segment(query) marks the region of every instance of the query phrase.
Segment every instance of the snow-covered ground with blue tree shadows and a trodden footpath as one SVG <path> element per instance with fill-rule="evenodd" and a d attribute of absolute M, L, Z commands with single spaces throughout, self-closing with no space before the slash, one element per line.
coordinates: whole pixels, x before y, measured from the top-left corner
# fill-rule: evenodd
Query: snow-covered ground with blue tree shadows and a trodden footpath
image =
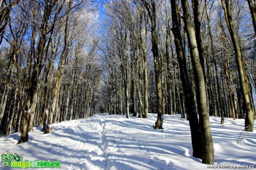
<path fill-rule="evenodd" d="M 100 114 L 61 122 L 52 133 L 29 132 L 29 142 L 21 145 L 16 145 L 19 133 L 1 137 L 0 153 L 17 153 L 22 161 L 61 161 L 61 169 L 207 168 L 192 157 L 188 121 L 165 115 L 164 130 L 154 130 L 155 121 L 155 114 L 148 119 Z M 244 120 L 219 122 L 219 117 L 210 117 L 215 165 L 256 166 L 256 128 L 244 132 Z"/>

